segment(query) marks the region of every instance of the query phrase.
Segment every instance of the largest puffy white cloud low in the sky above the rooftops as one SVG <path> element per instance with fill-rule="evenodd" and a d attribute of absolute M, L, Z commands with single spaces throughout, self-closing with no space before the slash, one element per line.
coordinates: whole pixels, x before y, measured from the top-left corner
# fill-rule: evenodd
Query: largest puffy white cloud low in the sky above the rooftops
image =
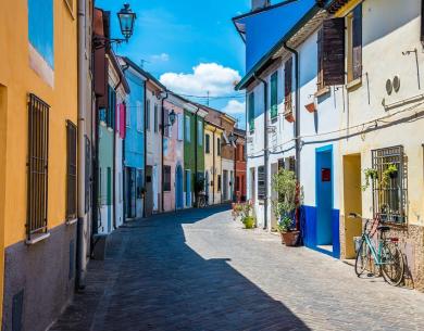
<path fill-rule="evenodd" d="M 190 96 L 211 97 L 234 93 L 236 81 L 241 79 L 240 74 L 217 63 L 200 63 L 192 67 L 192 73 L 165 73 L 160 81 L 170 90 Z"/>

